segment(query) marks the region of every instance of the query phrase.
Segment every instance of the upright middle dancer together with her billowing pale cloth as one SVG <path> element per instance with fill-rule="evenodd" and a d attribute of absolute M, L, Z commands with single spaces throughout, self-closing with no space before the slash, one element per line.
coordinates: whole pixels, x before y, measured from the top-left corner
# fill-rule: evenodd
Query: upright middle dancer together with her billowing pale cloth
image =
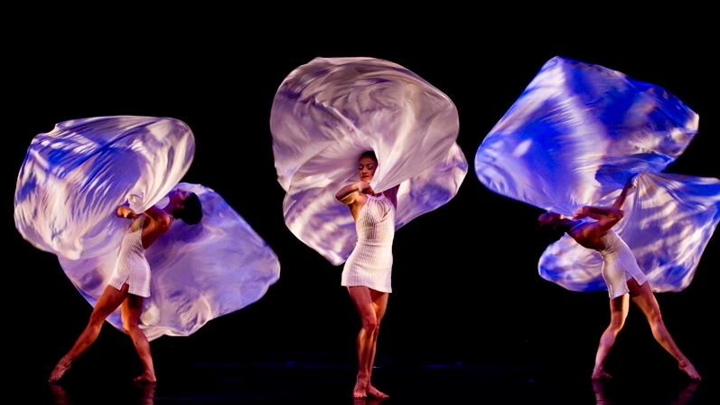
<path fill-rule="evenodd" d="M 375 58 L 314 58 L 290 72 L 273 99 L 285 225 L 332 265 L 344 263 L 341 285 L 362 320 L 358 400 L 387 398 L 370 373 L 390 293 L 391 243 L 395 231 L 448 203 L 463 184 L 459 123 L 447 95 Z"/>

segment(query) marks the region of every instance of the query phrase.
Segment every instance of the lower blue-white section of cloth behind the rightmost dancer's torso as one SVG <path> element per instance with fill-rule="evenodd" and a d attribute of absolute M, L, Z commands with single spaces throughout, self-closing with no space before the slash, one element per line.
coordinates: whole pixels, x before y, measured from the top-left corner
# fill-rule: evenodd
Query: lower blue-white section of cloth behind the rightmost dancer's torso
<path fill-rule="evenodd" d="M 656 292 L 690 285 L 700 257 L 720 221 L 720 180 L 681 174 L 641 173 L 614 226 Z M 620 192 L 596 204 L 611 205 Z M 607 289 L 603 259 L 564 234 L 539 259 L 542 278 L 571 291 Z"/>

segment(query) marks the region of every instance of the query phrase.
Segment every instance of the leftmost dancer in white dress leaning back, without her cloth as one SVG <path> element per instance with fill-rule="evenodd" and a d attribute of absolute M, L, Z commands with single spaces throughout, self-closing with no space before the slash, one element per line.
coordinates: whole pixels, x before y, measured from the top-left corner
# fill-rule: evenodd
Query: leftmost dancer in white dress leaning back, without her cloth
<path fill-rule="evenodd" d="M 102 295 L 90 314 L 88 325 L 73 344 L 70 352 L 62 356 L 50 375 L 49 382 L 59 381 L 70 369 L 72 362 L 98 338 L 106 318 L 121 306 L 123 329 L 130 336 L 143 363 L 143 373 L 136 377 L 139 383 L 155 382 L 150 344 L 138 326 L 143 299 L 150 297 L 150 265 L 145 259 L 147 250 L 155 240 L 170 229 L 173 219 L 187 224 L 201 221 L 202 207 L 197 194 L 180 188 L 168 194 L 164 208 L 152 206 L 137 214 L 127 205 L 120 205 L 116 215 L 133 220 L 122 240 L 116 266 Z"/>

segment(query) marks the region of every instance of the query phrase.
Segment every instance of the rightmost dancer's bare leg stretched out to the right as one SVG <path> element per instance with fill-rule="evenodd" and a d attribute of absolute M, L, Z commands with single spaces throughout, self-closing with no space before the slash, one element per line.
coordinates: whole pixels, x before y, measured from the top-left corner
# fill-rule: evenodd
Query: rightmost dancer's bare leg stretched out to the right
<path fill-rule="evenodd" d="M 668 328 L 665 327 L 665 322 L 663 322 L 662 316 L 660 315 L 658 300 L 655 298 L 655 295 L 652 294 L 650 283 L 644 283 L 642 286 L 639 286 L 638 282 L 632 278 L 628 281 L 628 287 L 630 287 L 632 302 L 640 307 L 642 313 L 648 318 L 650 330 L 655 340 L 678 360 L 678 368 L 682 372 L 685 372 L 687 377 L 693 381 L 700 381 L 700 374 L 695 370 L 695 366 L 687 360 L 685 354 L 680 352 L 678 345 L 675 344 L 675 341 L 670 336 Z"/>

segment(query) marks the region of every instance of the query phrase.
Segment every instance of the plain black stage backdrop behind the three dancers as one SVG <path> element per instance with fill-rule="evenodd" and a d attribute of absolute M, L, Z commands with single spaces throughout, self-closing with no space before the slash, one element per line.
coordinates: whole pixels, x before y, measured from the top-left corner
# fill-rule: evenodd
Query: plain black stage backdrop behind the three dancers
<path fill-rule="evenodd" d="M 243 25 L 250 18 L 208 21 L 202 30 L 199 22 L 172 19 L 146 28 L 158 24 L 159 15 L 126 27 L 102 19 L 61 26 L 42 22 L 36 24 L 44 26 L 41 37 L 9 45 L 4 99 L 11 126 L 5 127 L 3 154 L 5 268 L 11 275 L 5 291 L 12 299 L 5 306 L 5 330 L 11 331 L 5 338 L 18 361 L 14 370 L 46 378 L 91 310 L 57 259 L 34 249 L 10 222 L 11 193 L 27 146 L 71 118 L 141 115 L 187 123 L 197 152 L 183 181 L 220 193 L 280 259 L 280 280 L 257 303 L 210 321 L 192 336 L 155 340 L 158 373 L 203 361 L 355 361 L 360 323 L 340 286 L 341 267 L 285 227 L 285 192 L 276 182 L 271 148 L 275 91 L 290 71 L 314 57 L 397 62 L 442 90 L 459 111 L 457 142 L 470 168 L 454 200 L 397 231 L 394 292 L 378 347 L 382 362 L 550 362 L 570 363 L 588 375 L 592 370 L 597 339 L 609 319 L 606 293 L 570 292 L 541 279 L 537 264 L 545 243 L 535 232 L 539 210 L 491 193 L 473 169 L 483 137 L 548 59 L 561 55 L 597 63 L 668 89 L 701 119 L 700 133 L 667 172 L 720 176 L 718 118 L 711 109 L 714 54 L 711 44 L 703 45 L 700 27 L 685 27 L 697 31 L 676 33 L 675 42 L 665 44 L 669 39 L 655 33 L 609 36 L 580 22 L 512 21 L 506 25 L 515 32 L 510 35 L 491 25 L 440 29 L 420 19 L 401 28 L 378 20 L 366 27 L 371 36 L 350 37 L 305 30 L 290 20 L 270 19 L 253 31 Z M 523 27 L 527 30 L 519 34 Z M 716 233 L 690 287 L 658 295 L 669 330 L 700 372 L 717 363 Z M 625 356 L 649 362 L 645 372 L 675 367 L 635 307 L 615 352 L 611 368 L 629 366 Z M 126 336 L 109 325 L 79 362 L 104 355 L 130 362 L 135 356 Z"/>

